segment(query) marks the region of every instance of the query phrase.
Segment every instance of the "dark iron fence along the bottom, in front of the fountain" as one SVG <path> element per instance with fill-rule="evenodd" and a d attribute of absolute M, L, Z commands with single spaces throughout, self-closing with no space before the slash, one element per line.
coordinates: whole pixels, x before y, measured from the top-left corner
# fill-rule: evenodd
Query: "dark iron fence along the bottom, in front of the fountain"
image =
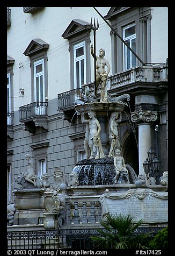
<path fill-rule="evenodd" d="M 153 238 L 162 227 L 138 228 L 134 234 L 150 232 Z M 105 229 L 103 229 L 105 230 Z M 71 249 L 99 250 L 99 243 L 91 239 L 100 236 L 97 229 L 61 229 L 41 231 L 10 231 L 7 232 L 7 249 Z"/>

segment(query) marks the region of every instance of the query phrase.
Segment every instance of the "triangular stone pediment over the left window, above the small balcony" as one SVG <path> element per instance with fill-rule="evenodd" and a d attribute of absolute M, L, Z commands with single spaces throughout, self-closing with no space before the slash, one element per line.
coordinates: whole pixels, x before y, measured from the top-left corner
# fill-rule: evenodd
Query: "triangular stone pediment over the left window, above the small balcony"
<path fill-rule="evenodd" d="M 32 54 L 35 54 L 43 49 L 48 49 L 49 44 L 47 42 L 43 41 L 42 39 L 33 39 L 30 44 L 27 46 L 25 52 L 23 53 L 25 56 L 30 56 Z"/>

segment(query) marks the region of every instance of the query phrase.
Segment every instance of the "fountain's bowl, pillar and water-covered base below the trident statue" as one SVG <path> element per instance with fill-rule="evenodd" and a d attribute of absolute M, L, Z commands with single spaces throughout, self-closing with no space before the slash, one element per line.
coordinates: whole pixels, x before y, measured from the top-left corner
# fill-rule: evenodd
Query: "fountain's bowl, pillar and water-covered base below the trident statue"
<path fill-rule="evenodd" d="M 94 96 L 90 98 L 92 99 Z M 121 99 L 123 101 L 121 101 Z M 99 121 L 100 125 L 100 141 L 103 151 L 102 157 L 100 157 L 100 155 L 92 155 L 92 152 L 89 153 L 90 147 L 88 148 L 89 145 L 87 145 L 89 138 L 85 136 L 84 145 L 86 146 L 84 146 L 84 148 L 86 150 L 86 159 L 78 161 L 77 165 L 72 170 L 72 172 L 78 174 L 79 185 L 114 184 L 114 151 L 116 148 L 120 147 L 120 143 L 117 134 L 116 137 L 110 137 L 110 133 L 112 133 L 110 121 L 114 118 L 115 131 L 117 131 L 117 125 L 121 122 L 122 111 L 128 105 L 125 101 L 129 101 L 129 95 L 115 97 L 115 95 L 111 96 L 108 94 L 106 102 L 88 102 L 87 99 L 86 102 L 75 102 L 75 110 L 77 115 L 81 115 L 82 122 L 85 123 L 87 120 L 90 120 L 90 118 L 88 119 L 88 113 L 95 113 L 95 118 Z M 89 126 L 86 126 L 86 134 L 88 134 L 88 136 L 89 132 Z M 135 183 L 137 175 L 133 168 L 129 165 L 126 165 L 126 168 L 128 169 L 129 183 Z M 120 181 L 120 183 L 122 183 L 122 181 Z M 125 183 L 125 181 L 123 181 L 123 183 Z"/>

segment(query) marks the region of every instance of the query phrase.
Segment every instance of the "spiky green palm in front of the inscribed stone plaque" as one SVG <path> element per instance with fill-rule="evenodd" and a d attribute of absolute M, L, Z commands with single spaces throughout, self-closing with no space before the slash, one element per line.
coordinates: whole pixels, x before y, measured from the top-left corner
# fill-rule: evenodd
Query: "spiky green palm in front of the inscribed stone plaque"
<path fill-rule="evenodd" d="M 100 222 L 105 230 L 97 229 L 100 235 L 91 239 L 106 249 L 147 249 L 147 238 L 151 232 L 135 234 L 134 231 L 143 221 L 134 223 L 133 220 L 130 215 L 106 214 Z"/>

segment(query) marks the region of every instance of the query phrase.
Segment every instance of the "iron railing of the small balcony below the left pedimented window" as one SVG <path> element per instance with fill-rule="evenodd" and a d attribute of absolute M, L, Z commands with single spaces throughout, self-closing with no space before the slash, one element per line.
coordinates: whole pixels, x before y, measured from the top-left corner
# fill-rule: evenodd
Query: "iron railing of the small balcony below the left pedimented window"
<path fill-rule="evenodd" d="M 48 102 L 33 102 L 19 108 L 19 120 L 24 120 L 36 116 L 47 116 Z"/>

